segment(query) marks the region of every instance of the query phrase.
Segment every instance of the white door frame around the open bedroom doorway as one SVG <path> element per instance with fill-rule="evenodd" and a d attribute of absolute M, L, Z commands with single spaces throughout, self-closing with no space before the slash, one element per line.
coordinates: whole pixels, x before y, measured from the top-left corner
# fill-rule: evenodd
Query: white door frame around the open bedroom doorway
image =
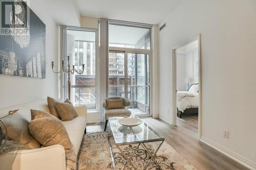
<path fill-rule="evenodd" d="M 199 104 L 198 104 L 198 138 L 201 138 L 201 117 L 202 117 L 202 98 L 201 98 L 201 34 L 193 39 L 189 39 L 179 45 L 172 48 L 172 72 L 173 72 L 173 126 L 177 126 L 177 103 L 176 103 L 176 92 L 177 92 L 177 49 L 187 45 L 191 42 L 198 40 L 198 90 L 199 90 Z"/>

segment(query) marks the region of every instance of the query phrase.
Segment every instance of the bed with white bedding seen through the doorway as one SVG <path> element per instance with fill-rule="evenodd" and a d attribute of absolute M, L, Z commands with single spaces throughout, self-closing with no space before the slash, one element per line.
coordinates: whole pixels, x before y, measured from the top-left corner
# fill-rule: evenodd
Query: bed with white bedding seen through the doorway
<path fill-rule="evenodd" d="M 191 84 L 188 91 L 177 91 L 177 116 L 198 113 L 198 83 Z"/>

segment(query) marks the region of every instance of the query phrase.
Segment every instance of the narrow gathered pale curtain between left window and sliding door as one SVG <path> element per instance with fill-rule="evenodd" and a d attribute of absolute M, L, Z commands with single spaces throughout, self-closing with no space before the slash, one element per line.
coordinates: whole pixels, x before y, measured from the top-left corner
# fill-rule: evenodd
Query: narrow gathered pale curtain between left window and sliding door
<path fill-rule="evenodd" d="M 109 21 L 100 19 L 100 46 L 99 46 L 99 66 L 100 66 L 100 121 L 104 121 L 104 109 L 102 101 L 106 98 L 107 93 L 107 80 L 108 80 L 108 55 L 109 55 Z"/>

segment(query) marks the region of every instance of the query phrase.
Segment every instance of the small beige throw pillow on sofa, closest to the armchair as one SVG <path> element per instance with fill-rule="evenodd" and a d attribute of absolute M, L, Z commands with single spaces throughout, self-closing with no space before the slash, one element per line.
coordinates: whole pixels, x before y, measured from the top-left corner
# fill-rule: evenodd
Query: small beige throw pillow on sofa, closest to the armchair
<path fill-rule="evenodd" d="M 55 105 L 62 121 L 73 120 L 78 116 L 73 104 L 68 99 L 65 103 L 56 102 Z"/>

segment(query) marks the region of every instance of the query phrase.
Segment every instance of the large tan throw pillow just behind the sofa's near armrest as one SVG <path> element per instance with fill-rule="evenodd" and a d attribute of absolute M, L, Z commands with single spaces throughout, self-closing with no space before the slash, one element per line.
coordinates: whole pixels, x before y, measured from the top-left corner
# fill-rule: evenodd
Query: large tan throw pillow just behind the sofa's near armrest
<path fill-rule="evenodd" d="M 65 126 L 57 117 L 42 117 L 31 120 L 30 133 L 44 146 L 60 144 L 71 149 L 71 141 Z"/>

